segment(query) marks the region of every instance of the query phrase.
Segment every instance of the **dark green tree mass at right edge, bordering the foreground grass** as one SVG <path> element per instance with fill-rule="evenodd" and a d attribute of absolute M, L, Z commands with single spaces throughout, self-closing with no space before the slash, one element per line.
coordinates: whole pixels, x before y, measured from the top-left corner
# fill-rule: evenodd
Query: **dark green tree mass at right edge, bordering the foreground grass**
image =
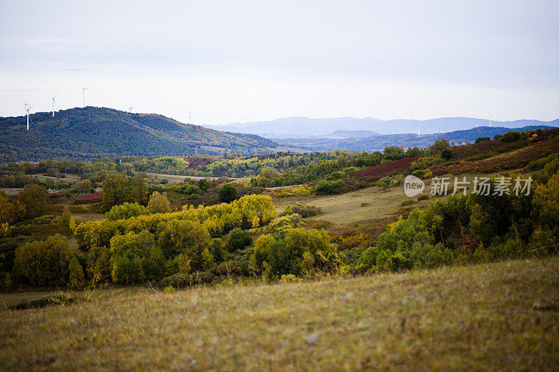
<path fill-rule="evenodd" d="M 557 255 L 558 170 L 559 161 L 554 161 L 536 174 L 529 195 L 453 195 L 427 209 L 414 209 L 389 225 L 351 269 L 401 271 Z M 511 174 L 517 176 L 523 177 Z"/>

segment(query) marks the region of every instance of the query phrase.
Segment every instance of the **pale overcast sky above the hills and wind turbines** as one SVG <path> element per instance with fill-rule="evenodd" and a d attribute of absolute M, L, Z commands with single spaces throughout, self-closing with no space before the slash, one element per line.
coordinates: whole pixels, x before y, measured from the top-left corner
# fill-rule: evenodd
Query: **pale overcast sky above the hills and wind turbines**
<path fill-rule="evenodd" d="M 559 0 L 0 0 L 0 116 L 559 118 Z M 191 120 L 188 119 L 190 110 Z"/>

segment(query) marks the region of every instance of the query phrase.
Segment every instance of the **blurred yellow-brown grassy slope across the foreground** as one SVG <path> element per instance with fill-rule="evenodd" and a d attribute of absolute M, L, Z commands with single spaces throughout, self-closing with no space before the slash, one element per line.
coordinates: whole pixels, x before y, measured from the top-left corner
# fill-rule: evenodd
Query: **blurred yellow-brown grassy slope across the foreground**
<path fill-rule="evenodd" d="M 0 369 L 553 370 L 559 259 L 0 310 Z"/>

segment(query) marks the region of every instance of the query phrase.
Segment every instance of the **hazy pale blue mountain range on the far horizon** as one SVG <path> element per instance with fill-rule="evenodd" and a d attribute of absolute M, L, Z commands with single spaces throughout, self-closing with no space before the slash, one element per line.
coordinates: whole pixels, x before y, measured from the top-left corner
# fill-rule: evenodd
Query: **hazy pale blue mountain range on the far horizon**
<path fill-rule="evenodd" d="M 233 123 L 218 126 L 206 126 L 219 131 L 236 133 L 252 133 L 269 138 L 289 137 L 325 137 L 338 130 L 342 131 L 373 131 L 382 134 L 417 133 L 421 124 L 420 133 L 448 133 L 463 131 L 476 126 L 489 126 L 488 119 L 472 117 L 440 117 L 428 120 L 380 120 L 372 117 L 356 119 L 353 117 L 340 117 L 335 119 L 309 119 L 307 117 L 288 117 L 272 121 L 253 121 L 250 123 Z M 491 121 L 493 127 L 520 128 L 523 126 L 558 126 L 559 119 L 553 121 L 540 120 L 515 120 Z"/>

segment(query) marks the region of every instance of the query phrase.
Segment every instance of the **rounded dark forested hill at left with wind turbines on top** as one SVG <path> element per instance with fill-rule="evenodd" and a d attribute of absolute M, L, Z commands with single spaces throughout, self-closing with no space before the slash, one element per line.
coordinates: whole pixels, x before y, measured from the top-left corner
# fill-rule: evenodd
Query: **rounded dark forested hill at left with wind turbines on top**
<path fill-rule="evenodd" d="M 269 153 L 277 144 L 258 135 L 224 133 L 158 114 L 83 107 L 0 117 L 0 161 L 87 159 L 122 155 L 186 155 L 224 150 Z"/>

